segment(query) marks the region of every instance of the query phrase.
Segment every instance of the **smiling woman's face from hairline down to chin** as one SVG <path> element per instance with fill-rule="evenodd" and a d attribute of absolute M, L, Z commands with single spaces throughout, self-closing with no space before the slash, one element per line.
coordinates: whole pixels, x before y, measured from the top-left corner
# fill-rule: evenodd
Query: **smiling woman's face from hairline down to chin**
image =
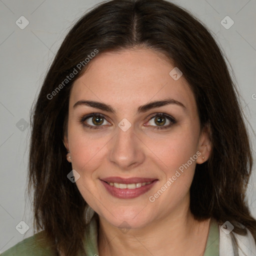
<path fill-rule="evenodd" d="M 108 52 L 72 86 L 68 159 L 84 200 L 114 226 L 181 214 L 195 165 L 208 158 L 194 96 L 173 68 L 150 49 Z"/>

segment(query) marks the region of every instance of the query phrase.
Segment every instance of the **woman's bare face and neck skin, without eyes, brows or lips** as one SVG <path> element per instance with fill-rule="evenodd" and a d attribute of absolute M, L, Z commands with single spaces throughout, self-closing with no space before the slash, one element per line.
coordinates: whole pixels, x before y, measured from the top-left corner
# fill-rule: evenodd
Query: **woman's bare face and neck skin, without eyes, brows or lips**
<path fill-rule="evenodd" d="M 99 215 L 100 256 L 127 255 L 127 251 L 129 255 L 203 255 L 209 219 L 193 218 L 189 187 L 196 163 L 209 157 L 209 130 L 200 129 L 195 99 L 184 77 L 174 80 L 169 75 L 173 67 L 164 55 L 146 48 L 102 53 L 89 62 L 71 89 L 64 144 L 70 152 L 67 160 L 80 174 L 76 185 Z M 173 103 L 137 113 L 139 106 L 165 98 L 184 107 Z M 115 113 L 88 105 L 73 107 L 79 100 L 109 104 Z M 105 116 L 100 128 L 84 125 L 95 127 L 92 118 L 80 122 L 89 113 Z M 154 113 L 166 113 L 176 122 L 157 130 L 159 123 L 151 118 Z M 131 124 L 126 131 L 118 127 L 123 118 Z M 167 126 L 170 122 L 165 121 Z M 196 152 L 200 156 L 158 198 L 149 201 Z M 158 181 L 136 198 L 121 199 L 110 195 L 100 182 L 108 176 Z M 118 227 L 121 223 L 127 223 L 126 231 Z"/>

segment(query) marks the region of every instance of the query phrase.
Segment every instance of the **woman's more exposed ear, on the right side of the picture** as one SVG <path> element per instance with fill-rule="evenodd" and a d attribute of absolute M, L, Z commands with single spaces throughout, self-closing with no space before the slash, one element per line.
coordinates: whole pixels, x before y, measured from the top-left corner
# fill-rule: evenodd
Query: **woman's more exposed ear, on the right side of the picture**
<path fill-rule="evenodd" d="M 201 134 L 198 141 L 198 151 L 201 153 L 197 158 L 196 163 L 203 163 L 208 160 L 211 152 L 211 130 L 210 125 L 205 124 L 201 130 Z"/>

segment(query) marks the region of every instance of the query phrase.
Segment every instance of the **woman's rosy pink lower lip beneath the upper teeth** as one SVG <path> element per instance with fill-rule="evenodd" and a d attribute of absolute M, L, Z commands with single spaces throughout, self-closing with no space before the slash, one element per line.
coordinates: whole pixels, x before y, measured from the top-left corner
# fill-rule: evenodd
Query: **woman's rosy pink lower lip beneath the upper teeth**
<path fill-rule="evenodd" d="M 100 180 L 100 181 L 111 195 L 117 198 L 122 198 L 122 199 L 131 199 L 131 198 L 138 197 L 139 195 L 146 193 L 157 182 L 157 180 L 155 179 L 151 183 L 146 184 L 144 186 L 137 187 L 134 189 L 129 189 L 129 188 L 116 188 L 114 186 L 110 186 L 108 183 L 106 183 L 103 180 Z"/>

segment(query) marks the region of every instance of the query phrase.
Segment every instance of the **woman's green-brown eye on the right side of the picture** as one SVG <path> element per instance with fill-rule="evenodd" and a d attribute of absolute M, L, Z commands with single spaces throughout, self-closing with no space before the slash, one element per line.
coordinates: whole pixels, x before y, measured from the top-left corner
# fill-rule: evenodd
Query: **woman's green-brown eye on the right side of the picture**
<path fill-rule="evenodd" d="M 176 120 L 165 113 L 156 113 L 151 116 L 147 122 L 147 125 L 156 126 L 156 129 L 164 129 L 170 127 L 172 124 L 176 123 Z"/>

